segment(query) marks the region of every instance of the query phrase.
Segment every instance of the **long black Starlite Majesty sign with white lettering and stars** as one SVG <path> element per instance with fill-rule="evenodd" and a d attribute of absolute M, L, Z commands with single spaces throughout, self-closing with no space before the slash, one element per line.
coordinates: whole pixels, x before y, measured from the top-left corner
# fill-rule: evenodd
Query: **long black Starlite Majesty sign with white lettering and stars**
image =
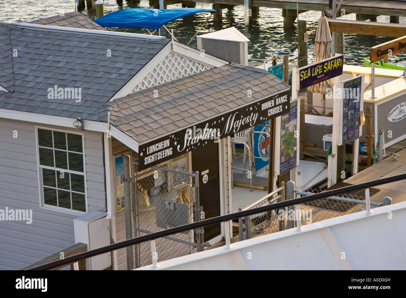
<path fill-rule="evenodd" d="M 267 99 L 253 101 L 225 114 L 139 145 L 138 169 L 143 170 L 180 154 L 201 148 L 220 139 L 289 112 L 289 89 Z"/>

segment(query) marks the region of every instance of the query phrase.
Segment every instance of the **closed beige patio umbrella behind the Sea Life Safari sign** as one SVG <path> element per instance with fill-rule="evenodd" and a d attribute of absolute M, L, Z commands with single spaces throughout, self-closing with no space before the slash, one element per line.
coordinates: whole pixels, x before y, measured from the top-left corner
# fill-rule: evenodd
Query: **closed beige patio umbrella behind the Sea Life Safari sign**
<path fill-rule="evenodd" d="M 319 62 L 333 56 L 331 54 L 330 28 L 328 27 L 327 18 L 324 15 L 324 12 L 322 12 L 322 16 L 320 17 L 319 24 L 317 26 L 316 38 L 314 41 L 314 62 Z M 322 81 L 313 86 L 310 86 L 308 90 L 314 93 L 326 94 L 326 89 L 333 88 L 333 84 L 333 79 L 328 79 L 326 81 Z"/>

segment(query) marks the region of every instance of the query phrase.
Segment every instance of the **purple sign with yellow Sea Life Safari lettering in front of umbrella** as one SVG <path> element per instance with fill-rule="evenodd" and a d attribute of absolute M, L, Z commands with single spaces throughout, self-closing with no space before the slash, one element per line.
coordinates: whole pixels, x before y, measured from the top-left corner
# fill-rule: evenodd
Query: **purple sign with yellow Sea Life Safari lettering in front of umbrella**
<path fill-rule="evenodd" d="M 298 90 L 342 75 L 343 57 L 343 55 L 337 55 L 300 68 Z"/>

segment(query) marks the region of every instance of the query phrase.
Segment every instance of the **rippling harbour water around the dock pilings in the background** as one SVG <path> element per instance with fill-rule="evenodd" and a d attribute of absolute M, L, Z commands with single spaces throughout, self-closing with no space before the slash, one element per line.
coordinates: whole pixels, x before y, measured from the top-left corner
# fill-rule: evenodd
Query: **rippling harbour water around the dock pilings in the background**
<path fill-rule="evenodd" d="M 132 3 L 132 1 L 122 1 L 122 5 L 117 4 L 116 0 L 105 0 L 105 14 L 118 9 L 136 8 L 149 6 L 147 0 L 141 0 L 139 4 Z M 212 5 L 207 3 L 197 3 L 197 8 L 211 9 Z M 168 9 L 181 8 L 181 4 L 168 5 Z M 299 7 L 300 8 L 300 7 Z M 27 22 L 35 19 L 50 17 L 60 14 L 64 10 L 70 12 L 74 10 L 73 0 L 0 0 L 0 20 L 11 23 Z M 94 11 L 84 9 L 82 14 L 90 19 L 95 19 Z M 280 9 L 260 8 L 259 15 L 253 19 L 253 24 L 248 29 L 244 27 L 244 9 L 243 6 L 235 6 L 234 9 L 223 10 L 223 23 L 222 28 L 236 27 L 240 32 L 250 39 L 248 43 L 248 56 L 250 58 L 270 59 L 272 56 L 280 51 L 288 51 L 293 43 L 297 43 L 297 30 L 283 30 L 283 17 Z M 307 21 L 307 31 L 309 33 L 308 54 L 309 63 L 314 61 L 314 38 L 317 29 L 318 19 L 320 17 L 318 11 L 308 11 L 299 15 L 300 19 Z M 350 14 L 342 17 L 344 19 L 355 20 L 355 14 Z M 212 20 L 212 19 L 211 19 Z M 201 15 L 191 15 L 172 22 L 167 27 L 174 29 L 175 37 L 183 42 L 188 43 L 190 38 L 198 30 L 204 22 Z M 378 17 L 378 22 L 389 22 L 389 16 Z M 406 24 L 406 17 L 400 17 L 400 23 Z M 296 26 L 296 22 L 295 22 Z M 218 26 L 214 26 L 213 22 L 207 26 L 201 33 L 212 32 L 219 30 Z M 144 29 L 124 29 L 124 28 L 111 28 L 109 30 L 127 31 L 134 33 L 148 33 Z M 161 30 L 161 34 L 164 33 Z M 200 33 L 199 33 L 200 34 Z M 169 34 L 167 34 L 169 37 Z M 346 34 L 346 43 L 353 46 L 372 47 L 386 41 L 390 41 L 390 37 L 378 37 L 369 35 L 356 35 Z M 196 47 L 196 39 L 190 43 Z M 293 62 L 297 56 L 295 51 L 294 56 L 290 58 Z M 349 64 L 363 64 L 363 58 L 369 57 L 368 49 L 350 49 L 346 48 L 346 61 Z M 389 58 L 390 63 L 403 65 L 406 54 L 397 55 Z"/>

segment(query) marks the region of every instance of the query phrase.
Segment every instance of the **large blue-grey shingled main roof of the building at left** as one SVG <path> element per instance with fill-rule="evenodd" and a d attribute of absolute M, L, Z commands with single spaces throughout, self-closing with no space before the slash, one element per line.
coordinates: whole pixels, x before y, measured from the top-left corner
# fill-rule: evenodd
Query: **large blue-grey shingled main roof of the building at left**
<path fill-rule="evenodd" d="M 0 108 L 98 120 L 97 109 L 170 42 L 64 29 L 0 23 L 0 86 L 10 91 L 0 91 Z M 48 99 L 54 86 L 81 88 L 81 101 Z"/>

